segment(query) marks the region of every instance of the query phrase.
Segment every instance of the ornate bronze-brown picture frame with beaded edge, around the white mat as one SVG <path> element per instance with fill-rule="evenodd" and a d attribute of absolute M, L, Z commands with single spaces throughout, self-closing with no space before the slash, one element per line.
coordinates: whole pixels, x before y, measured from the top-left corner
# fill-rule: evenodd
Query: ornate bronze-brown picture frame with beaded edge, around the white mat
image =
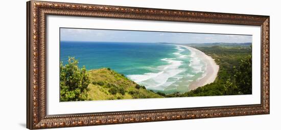
<path fill-rule="evenodd" d="M 46 15 L 261 26 L 261 104 L 46 115 Z M 55 2 L 27 2 L 27 128 L 269 114 L 269 16 Z"/>

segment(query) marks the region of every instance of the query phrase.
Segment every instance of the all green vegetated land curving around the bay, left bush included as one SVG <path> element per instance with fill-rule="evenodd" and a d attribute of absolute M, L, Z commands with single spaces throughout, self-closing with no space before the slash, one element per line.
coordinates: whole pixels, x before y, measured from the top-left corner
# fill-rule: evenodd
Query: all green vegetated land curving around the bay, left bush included
<path fill-rule="evenodd" d="M 251 44 L 190 44 L 215 59 L 219 65 L 213 83 L 185 93 L 166 95 L 147 90 L 110 68 L 86 71 L 78 67 L 78 61 L 68 58 L 60 63 L 60 101 L 113 100 L 162 97 L 192 97 L 242 95 L 252 93 Z"/>

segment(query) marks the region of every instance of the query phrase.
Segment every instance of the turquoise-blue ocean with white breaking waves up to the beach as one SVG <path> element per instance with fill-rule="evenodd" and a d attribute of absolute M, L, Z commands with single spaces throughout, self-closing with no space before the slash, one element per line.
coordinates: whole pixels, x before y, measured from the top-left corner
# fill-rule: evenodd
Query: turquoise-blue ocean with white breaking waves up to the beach
<path fill-rule="evenodd" d="M 87 70 L 111 68 L 146 89 L 166 94 L 188 91 L 203 78 L 206 64 L 178 45 L 137 42 L 61 41 L 60 61 L 75 57 Z"/>

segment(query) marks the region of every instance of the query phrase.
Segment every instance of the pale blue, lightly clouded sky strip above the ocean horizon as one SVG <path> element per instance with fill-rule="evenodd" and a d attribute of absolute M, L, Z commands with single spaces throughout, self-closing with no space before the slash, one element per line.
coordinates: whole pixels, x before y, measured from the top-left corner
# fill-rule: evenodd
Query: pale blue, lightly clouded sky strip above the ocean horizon
<path fill-rule="evenodd" d="M 171 42 L 177 44 L 211 42 L 252 42 L 251 35 L 173 33 L 97 29 L 60 29 L 62 41 Z"/>

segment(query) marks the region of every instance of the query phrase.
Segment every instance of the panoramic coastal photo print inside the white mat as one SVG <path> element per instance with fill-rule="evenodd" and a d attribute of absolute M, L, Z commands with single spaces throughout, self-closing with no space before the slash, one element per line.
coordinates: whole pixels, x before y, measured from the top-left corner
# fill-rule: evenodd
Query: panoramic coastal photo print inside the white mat
<path fill-rule="evenodd" d="M 252 94 L 252 35 L 60 28 L 60 101 Z"/>

